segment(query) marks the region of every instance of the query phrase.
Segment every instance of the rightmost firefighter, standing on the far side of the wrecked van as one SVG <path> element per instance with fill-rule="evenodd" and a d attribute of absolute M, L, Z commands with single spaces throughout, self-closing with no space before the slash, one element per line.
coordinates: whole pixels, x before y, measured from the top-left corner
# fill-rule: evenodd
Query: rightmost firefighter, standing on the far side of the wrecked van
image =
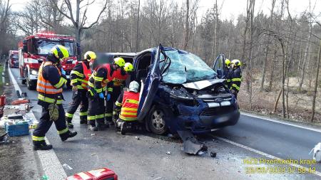
<path fill-rule="evenodd" d="M 242 82 L 242 70 L 240 69 L 240 60 L 232 60 L 231 64 L 231 73 L 230 73 L 230 90 L 235 95 L 235 98 L 238 98 L 238 91 L 240 90 L 240 84 Z"/>

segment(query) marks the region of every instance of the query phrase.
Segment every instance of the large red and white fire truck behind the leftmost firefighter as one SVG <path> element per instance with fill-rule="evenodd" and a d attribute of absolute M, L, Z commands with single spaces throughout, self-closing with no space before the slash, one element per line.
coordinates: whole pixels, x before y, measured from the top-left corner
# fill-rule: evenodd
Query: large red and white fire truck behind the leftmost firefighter
<path fill-rule="evenodd" d="M 68 85 L 70 84 L 69 75 L 77 62 L 77 55 L 80 54 L 80 46 L 76 39 L 68 35 L 58 35 L 54 33 L 36 33 L 27 36 L 19 42 L 19 69 L 21 83 L 26 84 L 29 90 L 36 89 L 38 71 L 46 55 L 51 48 L 61 44 L 68 48 L 69 58 L 63 60 L 62 68 L 66 71 Z"/>

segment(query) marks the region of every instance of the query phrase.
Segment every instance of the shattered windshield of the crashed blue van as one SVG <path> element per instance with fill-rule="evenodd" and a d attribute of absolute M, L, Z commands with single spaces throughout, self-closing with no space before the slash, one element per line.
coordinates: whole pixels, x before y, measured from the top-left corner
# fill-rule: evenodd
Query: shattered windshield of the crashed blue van
<path fill-rule="evenodd" d="M 164 83 L 191 83 L 199 80 L 209 80 L 216 77 L 215 71 L 201 58 L 192 53 L 182 51 L 165 51 L 170 58 L 170 67 L 163 73 Z M 164 59 L 161 54 L 161 60 Z M 160 63 L 162 67 L 163 62 Z"/>

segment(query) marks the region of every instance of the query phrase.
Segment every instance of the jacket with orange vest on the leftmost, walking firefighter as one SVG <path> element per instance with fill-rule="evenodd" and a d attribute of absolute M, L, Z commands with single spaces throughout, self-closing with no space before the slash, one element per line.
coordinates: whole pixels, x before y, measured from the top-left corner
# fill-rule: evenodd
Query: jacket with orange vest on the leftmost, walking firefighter
<path fill-rule="evenodd" d="M 63 85 L 67 83 L 66 76 L 51 61 L 43 62 L 39 68 L 36 90 L 39 92 L 38 104 L 61 104 Z"/>

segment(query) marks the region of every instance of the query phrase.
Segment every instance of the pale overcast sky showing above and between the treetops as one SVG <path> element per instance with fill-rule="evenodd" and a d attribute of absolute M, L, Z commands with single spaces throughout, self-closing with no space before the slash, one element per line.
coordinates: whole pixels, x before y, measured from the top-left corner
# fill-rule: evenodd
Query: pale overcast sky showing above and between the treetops
<path fill-rule="evenodd" d="M 71 0 L 76 1 L 76 0 Z M 101 0 L 97 0 L 98 2 Z M 144 0 L 141 0 L 144 1 Z M 185 2 L 185 0 L 177 0 L 181 2 Z M 246 1 L 247 0 L 218 0 L 219 7 L 223 4 L 221 9 L 221 17 L 222 19 L 236 19 L 239 14 L 245 14 L 246 9 Z M 280 10 L 280 1 L 277 0 L 275 11 Z M 24 9 L 24 5 L 28 2 L 28 0 L 11 0 L 12 9 L 14 11 L 22 11 Z M 206 10 L 213 7 L 215 0 L 199 0 L 199 9 L 198 9 L 198 17 L 200 18 L 205 14 Z M 290 2 L 290 13 L 292 16 L 300 15 L 302 12 L 308 10 L 309 0 L 289 0 Z M 321 13 L 321 0 L 311 0 L 312 6 L 315 5 L 314 14 L 319 15 Z M 88 18 L 91 21 L 94 21 L 98 16 L 99 4 L 93 5 L 92 9 L 94 11 L 88 11 Z M 270 14 L 271 0 L 257 0 L 255 2 L 255 14 L 258 11 L 263 11 L 265 14 Z M 320 19 L 320 18 L 319 18 Z"/>

